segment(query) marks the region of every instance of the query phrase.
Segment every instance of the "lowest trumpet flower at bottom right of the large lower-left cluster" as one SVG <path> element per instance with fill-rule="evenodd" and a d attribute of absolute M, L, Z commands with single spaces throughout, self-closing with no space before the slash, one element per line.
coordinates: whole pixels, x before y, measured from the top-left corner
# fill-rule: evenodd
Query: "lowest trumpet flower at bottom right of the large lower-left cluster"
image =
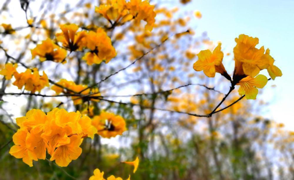
<path fill-rule="evenodd" d="M 55 160 L 55 163 L 58 166 L 68 166 L 72 160 L 77 159 L 82 153 L 82 148 L 79 147 L 83 141 L 81 136 L 72 135 L 69 138 L 70 143 L 57 147 L 57 149 L 52 154 L 52 157 L 50 158 L 51 161 Z"/>

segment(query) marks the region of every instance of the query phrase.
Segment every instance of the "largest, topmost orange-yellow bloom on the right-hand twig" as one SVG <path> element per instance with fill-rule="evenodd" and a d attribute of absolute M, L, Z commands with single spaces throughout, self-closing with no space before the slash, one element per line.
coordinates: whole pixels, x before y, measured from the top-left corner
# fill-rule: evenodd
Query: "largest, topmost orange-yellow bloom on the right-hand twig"
<path fill-rule="evenodd" d="M 264 46 L 260 49 L 255 47 L 259 42 L 258 38 L 241 34 L 235 41 L 237 45 L 234 47 L 234 75 L 245 74 L 253 78 L 260 70 L 270 66 L 273 59 L 270 54 L 264 54 Z"/>

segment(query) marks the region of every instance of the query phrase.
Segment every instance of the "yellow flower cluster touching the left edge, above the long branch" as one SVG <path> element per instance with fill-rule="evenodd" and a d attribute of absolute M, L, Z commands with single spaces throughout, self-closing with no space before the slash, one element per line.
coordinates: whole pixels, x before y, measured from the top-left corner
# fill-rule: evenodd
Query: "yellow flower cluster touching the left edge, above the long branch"
<path fill-rule="evenodd" d="M 12 75 L 15 77 L 13 83 L 14 86 L 17 86 L 18 89 L 22 89 L 25 86 L 25 90 L 31 91 L 41 91 L 45 86 L 49 87 L 49 80 L 47 74 L 43 71 L 43 75 L 40 76 L 37 68 L 26 69 L 25 72 L 18 73 L 17 64 L 12 65 L 11 63 L 5 64 L 5 68 L 0 71 L 1 75 L 4 75 L 7 80 L 12 78 Z"/>

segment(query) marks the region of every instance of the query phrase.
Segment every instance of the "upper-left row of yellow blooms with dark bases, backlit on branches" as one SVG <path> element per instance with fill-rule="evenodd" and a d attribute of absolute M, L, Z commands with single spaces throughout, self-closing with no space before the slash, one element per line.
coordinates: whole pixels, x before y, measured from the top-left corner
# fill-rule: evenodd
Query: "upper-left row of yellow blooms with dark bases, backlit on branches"
<path fill-rule="evenodd" d="M 77 32 L 78 26 L 76 24 L 63 24 L 60 28 L 62 32 L 56 34 L 56 40 L 62 43 L 62 48 L 47 39 L 31 50 L 32 59 L 39 56 L 41 62 L 47 60 L 66 63 L 66 49 L 72 52 L 83 48 L 90 50 L 82 57 L 88 65 L 100 64 L 102 61 L 108 63 L 116 56 L 111 39 L 102 28 L 98 28 L 96 32 Z"/>

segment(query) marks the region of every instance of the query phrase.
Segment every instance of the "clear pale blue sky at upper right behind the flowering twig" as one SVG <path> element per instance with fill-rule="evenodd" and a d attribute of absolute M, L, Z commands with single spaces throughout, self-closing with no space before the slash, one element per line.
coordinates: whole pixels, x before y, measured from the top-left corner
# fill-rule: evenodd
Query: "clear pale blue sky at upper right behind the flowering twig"
<path fill-rule="evenodd" d="M 258 37 L 260 46 L 270 48 L 283 76 L 270 81 L 258 98 L 270 102 L 265 116 L 294 130 L 294 0 L 192 0 L 186 8 L 202 13 L 196 32 L 207 31 L 225 52 L 232 52 L 239 34 Z"/>

